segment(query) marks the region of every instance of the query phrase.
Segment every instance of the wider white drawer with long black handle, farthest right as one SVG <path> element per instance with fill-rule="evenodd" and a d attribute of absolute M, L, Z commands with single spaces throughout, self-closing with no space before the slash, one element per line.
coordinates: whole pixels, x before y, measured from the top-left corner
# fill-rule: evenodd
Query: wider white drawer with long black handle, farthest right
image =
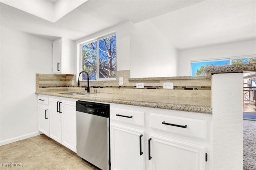
<path fill-rule="evenodd" d="M 150 128 L 206 139 L 206 121 L 150 113 Z"/>

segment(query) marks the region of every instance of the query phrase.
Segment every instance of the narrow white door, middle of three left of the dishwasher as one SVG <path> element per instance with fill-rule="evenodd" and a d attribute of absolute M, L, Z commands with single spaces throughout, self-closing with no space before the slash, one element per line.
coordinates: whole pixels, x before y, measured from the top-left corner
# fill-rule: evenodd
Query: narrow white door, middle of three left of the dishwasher
<path fill-rule="evenodd" d="M 50 98 L 49 99 L 49 128 L 50 128 L 50 138 L 61 143 L 61 113 L 60 100 Z"/>

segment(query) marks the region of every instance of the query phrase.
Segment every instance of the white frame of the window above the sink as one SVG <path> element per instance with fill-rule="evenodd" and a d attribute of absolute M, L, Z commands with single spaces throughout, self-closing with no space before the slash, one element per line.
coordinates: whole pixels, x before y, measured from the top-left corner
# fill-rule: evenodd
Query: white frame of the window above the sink
<path fill-rule="evenodd" d="M 104 36 L 99 36 L 97 38 L 93 38 L 93 39 L 90 39 L 88 41 L 83 41 L 81 43 L 78 44 L 78 56 L 79 56 L 79 69 L 78 69 L 78 73 L 77 73 L 77 79 L 78 79 L 78 74 L 82 71 L 82 68 L 83 68 L 83 63 L 82 63 L 82 46 L 85 45 L 85 44 L 90 44 L 92 42 L 97 42 L 97 70 L 96 70 L 96 80 L 90 80 L 90 81 L 114 81 L 116 80 L 116 78 L 99 78 L 99 53 L 98 53 L 98 48 L 99 48 L 99 41 L 100 40 L 103 40 L 104 38 L 108 38 L 108 37 L 111 37 L 111 36 L 114 36 L 116 35 L 116 32 L 114 33 L 111 33 L 111 34 L 107 34 L 107 35 L 104 35 Z M 116 56 L 116 60 L 117 60 L 117 56 Z M 117 65 L 117 63 L 116 63 Z M 116 67 L 117 68 L 117 67 Z M 82 76 L 80 76 L 80 79 L 82 79 Z M 80 81 L 86 81 L 86 80 L 80 80 Z"/>

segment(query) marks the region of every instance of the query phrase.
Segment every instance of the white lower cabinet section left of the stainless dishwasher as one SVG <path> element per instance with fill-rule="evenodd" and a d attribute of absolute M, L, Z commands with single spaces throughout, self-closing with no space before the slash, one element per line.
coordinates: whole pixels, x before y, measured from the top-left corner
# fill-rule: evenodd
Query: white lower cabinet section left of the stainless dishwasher
<path fill-rule="evenodd" d="M 76 152 L 76 100 L 53 96 L 38 100 L 39 131 Z M 43 105 L 46 101 L 49 104 Z"/>

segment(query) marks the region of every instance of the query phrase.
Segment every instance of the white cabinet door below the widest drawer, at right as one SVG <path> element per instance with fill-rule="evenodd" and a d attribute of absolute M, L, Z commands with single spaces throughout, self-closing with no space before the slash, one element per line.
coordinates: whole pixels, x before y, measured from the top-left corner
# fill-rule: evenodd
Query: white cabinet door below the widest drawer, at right
<path fill-rule="evenodd" d="M 204 170 L 206 168 L 204 146 L 150 134 L 148 152 L 147 160 L 150 170 Z"/>

